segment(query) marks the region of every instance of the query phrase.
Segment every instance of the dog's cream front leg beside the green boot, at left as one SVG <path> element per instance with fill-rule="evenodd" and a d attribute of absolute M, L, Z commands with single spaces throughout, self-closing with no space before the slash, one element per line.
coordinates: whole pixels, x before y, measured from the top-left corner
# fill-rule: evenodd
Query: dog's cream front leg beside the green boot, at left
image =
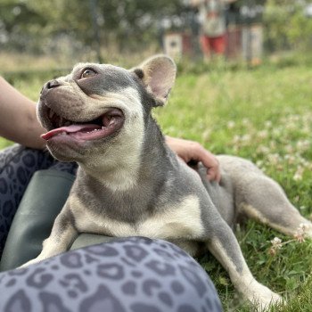
<path fill-rule="evenodd" d="M 55 218 L 50 236 L 43 242 L 43 249 L 36 259 L 25 263 L 22 267 L 58 255 L 68 250 L 70 243 L 78 236 L 70 209 L 62 209 Z"/>

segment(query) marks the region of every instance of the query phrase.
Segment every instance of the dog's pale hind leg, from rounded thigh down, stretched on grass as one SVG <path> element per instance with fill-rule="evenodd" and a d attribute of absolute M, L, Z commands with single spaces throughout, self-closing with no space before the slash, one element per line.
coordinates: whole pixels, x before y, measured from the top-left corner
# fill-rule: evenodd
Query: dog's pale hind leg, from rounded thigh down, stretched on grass
<path fill-rule="evenodd" d="M 252 176 L 236 196 L 239 211 L 283 234 L 294 235 L 304 224 L 306 236 L 312 238 L 312 223 L 291 205 L 282 187 L 264 175 Z"/>

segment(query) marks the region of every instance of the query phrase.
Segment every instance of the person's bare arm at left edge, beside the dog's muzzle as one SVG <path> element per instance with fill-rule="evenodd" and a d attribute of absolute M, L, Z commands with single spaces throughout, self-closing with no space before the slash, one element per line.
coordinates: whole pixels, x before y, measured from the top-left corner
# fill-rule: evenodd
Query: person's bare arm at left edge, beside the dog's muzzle
<path fill-rule="evenodd" d="M 37 121 L 36 103 L 0 77 L 0 135 L 22 145 L 42 149 L 45 129 Z"/>

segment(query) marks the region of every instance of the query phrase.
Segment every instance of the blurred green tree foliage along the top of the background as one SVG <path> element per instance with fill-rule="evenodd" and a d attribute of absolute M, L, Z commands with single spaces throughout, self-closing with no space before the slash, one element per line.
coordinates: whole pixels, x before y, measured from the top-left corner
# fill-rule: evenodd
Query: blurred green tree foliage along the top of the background
<path fill-rule="evenodd" d="M 311 47 L 312 18 L 307 15 L 311 3 L 237 0 L 231 5 L 239 23 L 256 21 L 260 12 L 257 21 L 264 24 L 265 46 L 273 52 Z M 124 53 L 150 45 L 157 49 L 164 21 L 169 21 L 171 29 L 192 30 L 193 11 L 186 4 L 187 0 L 2 0 L 0 48 L 70 55 L 93 50 L 98 39 L 103 46 L 113 45 Z"/>

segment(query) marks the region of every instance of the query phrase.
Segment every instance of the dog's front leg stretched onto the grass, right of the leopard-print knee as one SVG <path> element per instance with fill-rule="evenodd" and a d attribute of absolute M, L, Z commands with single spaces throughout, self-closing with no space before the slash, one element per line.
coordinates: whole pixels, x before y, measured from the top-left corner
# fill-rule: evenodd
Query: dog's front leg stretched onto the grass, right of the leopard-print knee
<path fill-rule="evenodd" d="M 251 275 L 233 231 L 226 222 L 222 221 L 215 225 L 217 232 L 209 239 L 208 248 L 225 267 L 235 289 L 242 294 L 243 298 L 254 303 L 259 310 L 281 301 L 279 295 L 257 282 Z"/>

